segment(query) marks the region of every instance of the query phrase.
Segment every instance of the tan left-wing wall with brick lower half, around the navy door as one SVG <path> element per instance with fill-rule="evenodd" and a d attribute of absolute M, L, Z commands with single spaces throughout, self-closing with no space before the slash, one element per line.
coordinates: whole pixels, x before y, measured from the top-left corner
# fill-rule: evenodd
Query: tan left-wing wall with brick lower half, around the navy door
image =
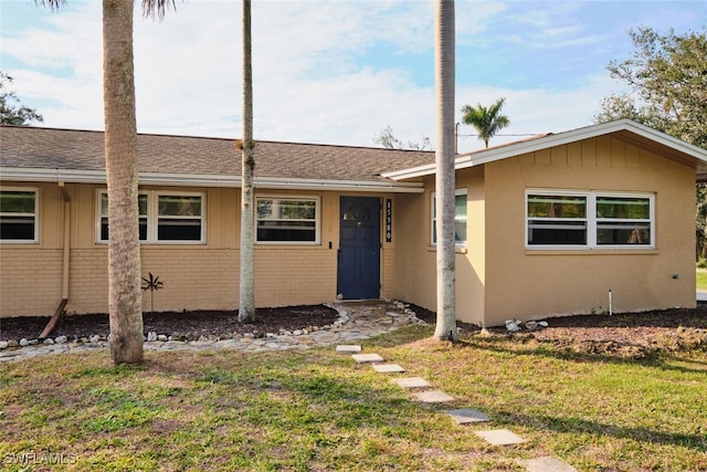
<path fill-rule="evenodd" d="M 51 315 L 62 298 L 63 199 L 56 183 L 8 183 L 40 188 L 40 241 L 0 244 L 0 316 Z M 6 183 L 3 183 L 6 187 Z M 71 275 L 67 313 L 106 313 L 107 244 L 96 243 L 96 192 L 99 185 L 66 185 L 71 196 Z M 154 190 L 155 187 L 140 187 Z M 143 244 L 143 275 L 159 276 L 155 311 L 236 310 L 240 264 L 240 189 L 159 188 L 205 193 L 205 244 Z M 255 303 L 284 306 L 333 302 L 337 285 L 338 192 L 256 190 L 256 196 L 307 196 L 320 199 L 317 244 L 257 244 Z M 363 196 L 371 196 L 366 193 Z M 392 198 L 387 195 L 383 197 Z M 381 216 L 381 225 L 384 218 Z M 331 242 L 331 248 L 329 248 Z M 392 295 L 395 244 L 381 252 L 381 296 Z M 143 296 L 150 310 L 150 293 Z"/>

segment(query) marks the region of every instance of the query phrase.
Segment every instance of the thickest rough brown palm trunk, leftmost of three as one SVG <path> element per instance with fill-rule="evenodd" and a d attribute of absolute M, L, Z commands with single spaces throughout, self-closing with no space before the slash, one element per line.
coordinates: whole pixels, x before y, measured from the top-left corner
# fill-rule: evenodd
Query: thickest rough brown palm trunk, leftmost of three
<path fill-rule="evenodd" d="M 110 355 L 143 361 L 138 161 L 133 75 L 133 1 L 103 1 L 103 98 L 108 186 Z"/>

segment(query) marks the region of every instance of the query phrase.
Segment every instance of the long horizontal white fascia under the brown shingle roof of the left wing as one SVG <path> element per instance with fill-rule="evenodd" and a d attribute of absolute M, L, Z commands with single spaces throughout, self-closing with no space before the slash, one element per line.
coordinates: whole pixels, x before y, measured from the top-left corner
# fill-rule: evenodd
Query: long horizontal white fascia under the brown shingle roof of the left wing
<path fill-rule="evenodd" d="M 74 182 L 74 183 L 105 183 L 106 172 L 103 170 L 71 170 L 71 169 L 36 169 L 1 167 L 0 180 L 33 181 L 33 182 Z M 140 185 L 172 186 L 172 187 L 241 187 L 240 176 L 228 175 L 186 175 L 140 172 Z M 367 191 L 393 193 L 422 193 L 420 182 L 399 183 L 394 181 L 366 180 L 317 180 L 287 179 L 277 177 L 257 177 L 254 185 L 258 188 L 296 189 L 296 190 L 331 190 L 331 191 Z"/>

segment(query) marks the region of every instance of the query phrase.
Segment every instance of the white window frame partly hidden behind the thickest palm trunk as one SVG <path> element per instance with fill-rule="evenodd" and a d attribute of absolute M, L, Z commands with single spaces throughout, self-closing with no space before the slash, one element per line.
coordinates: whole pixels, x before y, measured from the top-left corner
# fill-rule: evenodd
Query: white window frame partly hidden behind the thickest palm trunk
<path fill-rule="evenodd" d="M 107 244 L 108 240 L 101 239 L 101 221 L 106 217 L 102 213 L 103 196 L 107 195 L 107 189 L 98 189 L 96 191 L 96 243 Z M 207 193 L 198 191 L 178 191 L 178 190 L 139 190 L 138 195 L 147 196 L 147 239 L 141 239 L 140 244 L 205 244 L 207 242 Z M 160 240 L 158 238 L 159 229 L 159 198 L 162 196 L 176 197 L 200 197 L 201 210 L 200 216 L 192 219 L 200 221 L 201 234 L 199 240 Z M 161 217 L 163 218 L 163 217 Z"/>

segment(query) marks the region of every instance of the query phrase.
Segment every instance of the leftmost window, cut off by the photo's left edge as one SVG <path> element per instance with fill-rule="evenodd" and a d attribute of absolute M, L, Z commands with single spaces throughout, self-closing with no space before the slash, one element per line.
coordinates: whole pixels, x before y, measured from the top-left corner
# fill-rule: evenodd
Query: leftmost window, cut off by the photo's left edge
<path fill-rule="evenodd" d="M 38 190 L 0 190 L 0 241 L 38 241 Z"/>

